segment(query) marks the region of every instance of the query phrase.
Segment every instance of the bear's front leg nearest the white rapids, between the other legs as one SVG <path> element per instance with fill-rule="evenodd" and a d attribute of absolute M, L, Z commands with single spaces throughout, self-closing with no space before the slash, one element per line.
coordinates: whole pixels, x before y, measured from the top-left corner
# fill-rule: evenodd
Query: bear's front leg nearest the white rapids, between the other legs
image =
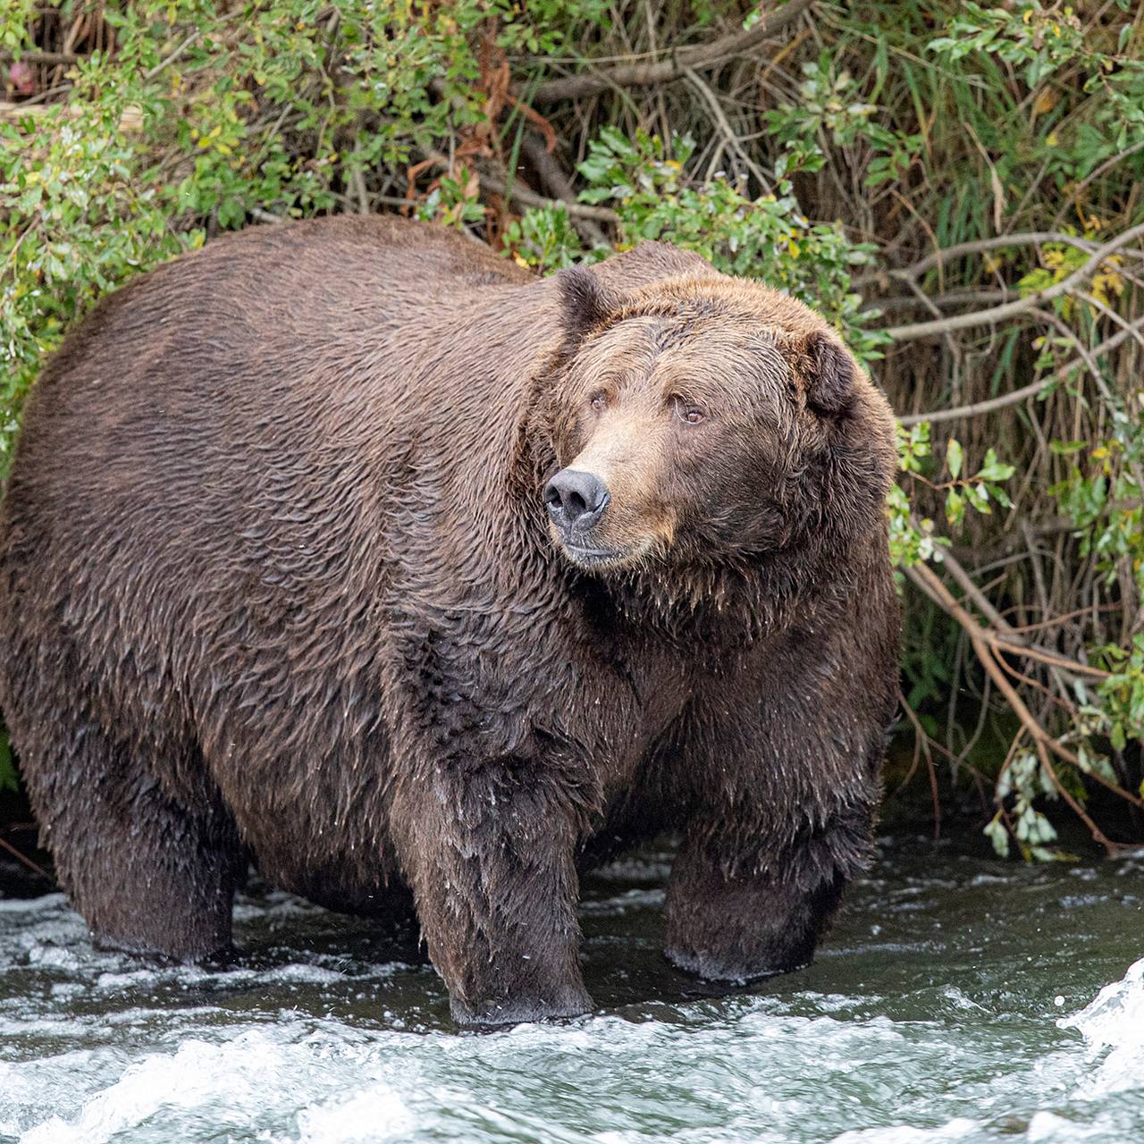
<path fill-rule="evenodd" d="M 438 766 L 400 791 L 394 832 L 454 1020 L 587 1012 L 577 828 L 555 776 L 522 760 Z"/>

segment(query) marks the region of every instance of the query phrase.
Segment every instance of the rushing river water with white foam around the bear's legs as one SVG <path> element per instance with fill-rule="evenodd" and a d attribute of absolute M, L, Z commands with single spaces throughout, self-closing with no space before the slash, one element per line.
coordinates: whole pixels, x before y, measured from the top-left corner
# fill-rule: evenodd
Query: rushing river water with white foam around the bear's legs
<path fill-rule="evenodd" d="M 2 899 L 0 1142 L 1144 1141 L 1144 857 L 889 840 L 813 967 L 731 995 L 660 958 L 667 861 L 586 881 L 596 1014 L 464 1035 L 408 935 L 283 893 L 217 971 Z"/>

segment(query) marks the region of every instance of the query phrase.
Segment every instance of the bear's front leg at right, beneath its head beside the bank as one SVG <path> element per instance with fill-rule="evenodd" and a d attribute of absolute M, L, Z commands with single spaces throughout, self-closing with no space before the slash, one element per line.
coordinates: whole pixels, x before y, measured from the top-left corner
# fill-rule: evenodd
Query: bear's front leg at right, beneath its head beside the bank
<path fill-rule="evenodd" d="M 897 691 L 896 611 L 868 613 L 883 614 L 793 633 L 697 697 L 678 733 L 685 827 L 667 891 L 677 966 L 739 982 L 813 956 L 873 853 Z"/>

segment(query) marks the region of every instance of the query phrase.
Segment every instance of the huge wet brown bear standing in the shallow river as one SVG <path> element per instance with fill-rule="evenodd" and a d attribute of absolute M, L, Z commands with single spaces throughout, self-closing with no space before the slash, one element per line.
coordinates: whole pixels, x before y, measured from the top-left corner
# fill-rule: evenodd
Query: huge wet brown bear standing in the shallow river
<path fill-rule="evenodd" d="M 253 863 L 415 909 L 459 1022 L 590 1007 L 578 871 L 804 966 L 872 847 L 892 420 L 802 303 L 649 244 L 535 278 L 384 219 L 105 299 L 29 400 L 0 704 L 94 937 L 205 959 Z"/>

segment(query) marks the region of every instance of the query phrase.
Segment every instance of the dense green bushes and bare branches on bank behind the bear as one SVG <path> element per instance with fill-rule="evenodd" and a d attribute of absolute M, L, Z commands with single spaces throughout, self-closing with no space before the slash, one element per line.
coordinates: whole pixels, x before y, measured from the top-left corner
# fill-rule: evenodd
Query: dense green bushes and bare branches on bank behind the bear
<path fill-rule="evenodd" d="M 896 778 L 1003 852 L 1057 807 L 1144 841 L 1137 6 L 16 0 L 0 76 L 5 466 L 65 331 L 220 231 L 666 239 L 820 308 L 901 414 Z"/>

